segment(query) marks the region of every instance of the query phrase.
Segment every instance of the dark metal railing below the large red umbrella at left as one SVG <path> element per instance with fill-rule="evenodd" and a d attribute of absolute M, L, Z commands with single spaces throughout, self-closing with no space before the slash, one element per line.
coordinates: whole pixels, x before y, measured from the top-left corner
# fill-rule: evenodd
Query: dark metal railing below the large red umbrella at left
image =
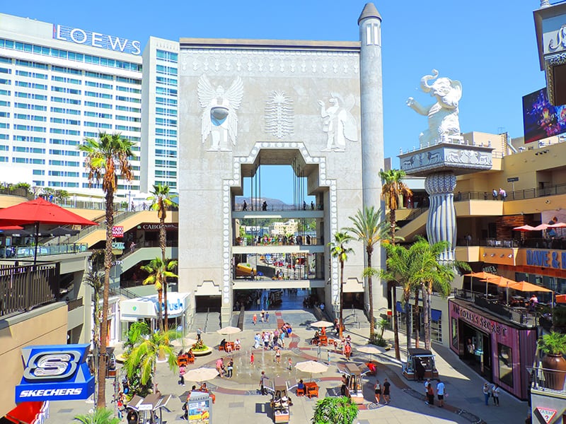
<path fill-rule="evenodd" d="M 57 302 L 59 264 L 0 265 L 0 317 Z"/>

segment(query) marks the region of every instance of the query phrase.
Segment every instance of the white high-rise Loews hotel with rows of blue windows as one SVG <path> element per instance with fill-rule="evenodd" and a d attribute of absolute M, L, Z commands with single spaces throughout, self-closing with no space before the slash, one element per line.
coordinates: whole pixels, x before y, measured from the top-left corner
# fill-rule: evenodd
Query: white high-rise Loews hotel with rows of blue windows
<path fill-rule="evenodd" d="M 118 195 L 175 192 L 178 50 L 0 13 L 0 183 L 92 193 L 77 146 L 105 131 L 136 142 Z"/>

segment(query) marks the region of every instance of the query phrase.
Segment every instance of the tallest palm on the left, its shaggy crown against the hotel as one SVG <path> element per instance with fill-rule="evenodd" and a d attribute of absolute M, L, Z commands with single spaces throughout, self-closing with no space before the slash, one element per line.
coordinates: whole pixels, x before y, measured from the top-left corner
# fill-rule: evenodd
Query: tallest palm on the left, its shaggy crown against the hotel
<path fill-rule="evenodd" d="M 88 182 L 102 179 L 106 202 L 106 244 L 104 252 L 104 290 L 102 321 L 100 322 L 100 360 L 98 361 L 98 408 L 105 408 L 106 343 L 108 335 L 108 293 L 110 291 L 110 269 L 112 268 L 112 227 L 114 226 L 114 194 L 118 186 L 118 175 L 132 181 L 134 174 L 129 159 L 134 156 L 134 143 L 120 133 L 98 134 L 98 140 L 85 139 L 79 151 L 85 154 L 84 165 L 88 170 Z"/>

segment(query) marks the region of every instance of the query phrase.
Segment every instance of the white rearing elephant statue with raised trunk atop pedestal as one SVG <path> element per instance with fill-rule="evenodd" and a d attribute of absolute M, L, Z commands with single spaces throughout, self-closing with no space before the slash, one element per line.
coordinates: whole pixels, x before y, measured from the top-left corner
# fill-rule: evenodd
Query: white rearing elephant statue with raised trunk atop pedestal
<path fill-rule="evenodd" d="M 430 106 L 422 106 L 413 98 L 407 99 L 407 105 L 417 113 L 429 117 L 429 128 L 419 136 L 420 146 L 427 147 L 442 141 L 450 141 L 451 136 L 460 136 L 458 120 L 458 102 L 462 98 L 462 84 L 450 78 L 437 78 L 438 71 L 421 78 L 421 89 L 424 93 L 436 98 L 437 102 Z M 436 80 L 434 83 L 429 83 Z"/>

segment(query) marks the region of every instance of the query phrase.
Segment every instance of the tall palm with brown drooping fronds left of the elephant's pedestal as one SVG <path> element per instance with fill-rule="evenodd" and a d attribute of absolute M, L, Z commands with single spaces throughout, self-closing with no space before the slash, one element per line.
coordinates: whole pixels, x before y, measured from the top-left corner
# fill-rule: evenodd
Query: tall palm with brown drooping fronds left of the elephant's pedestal
<path fill-rule="evenodd" d="M 381 196 L 385 199 L 386 207 L 389 209 L 389 226 L 391 231 L 391 243 L 395 244 L 395 229 L 397 228 L 397 220 L 395 220 L 395 211 L 398 209 L 398 199 L 400 196 L 412 196 L 412 191 L 403 182 L 406 174 L 403 170 L 387 170 L 380 171 L 379 177 L 383 180 L 381 186 Z M 393 297 L 391 299 L 393 309 L 393 334 L 395 335 L 395 358 L 401 359 L 399 351 L 399 329 L 398 312 L 397 312 L 397 290 L 395 284 L 393 285 Z"/>

